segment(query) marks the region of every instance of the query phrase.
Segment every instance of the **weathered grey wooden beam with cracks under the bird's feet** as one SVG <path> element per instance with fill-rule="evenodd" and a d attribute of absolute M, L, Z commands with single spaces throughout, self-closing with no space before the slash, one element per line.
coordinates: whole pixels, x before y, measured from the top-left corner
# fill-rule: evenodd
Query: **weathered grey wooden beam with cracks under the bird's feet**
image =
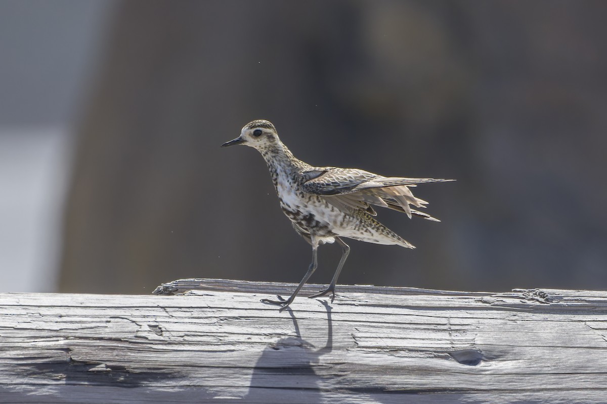
<path fill-rule="evenodd" d="M 0 402 L 607 402 L 606 292 L 294 286 L 0 294 Z"/>

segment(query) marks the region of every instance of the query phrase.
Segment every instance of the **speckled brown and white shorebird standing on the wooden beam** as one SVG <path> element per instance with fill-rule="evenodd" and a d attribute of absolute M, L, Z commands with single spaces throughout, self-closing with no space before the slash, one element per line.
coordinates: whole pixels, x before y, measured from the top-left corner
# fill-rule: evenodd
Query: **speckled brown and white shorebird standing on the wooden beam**
<path fill-rule="evenodd" d="M 312 246 L 312 262 L 297 288 L 288 299 L 262 299 L 263 303 L 287 308 L 302 286 L 318 267 L 317 249 L 325 243 L 337 243 L 342 256 L 331 283 L 311 298 L 330 294 L 335 299 L 335 285 L 350 253 L 342 240 L 346 237 L 369 243 L 399 245 L 415 248 L 407 240 L 388 229 L 376 219 L 376 207 L 388 208 L 426 220 L 440 220 L 415 208 L 425 208 L 423 199 L 413 196 L 410 188 L 426 182 L 446 182 L 450 179 L 385 177 L 358 168 L 313 167 L 295 156 L 283 144 L 276 127 L 265 119 L 246 124 L 240 136 L 222 147 L 245 145 L 262 154 L 279 197 L 283 213 L 291 220 L 295 231 Z M 411 205 L 415 208 L 412 208 Z"/>

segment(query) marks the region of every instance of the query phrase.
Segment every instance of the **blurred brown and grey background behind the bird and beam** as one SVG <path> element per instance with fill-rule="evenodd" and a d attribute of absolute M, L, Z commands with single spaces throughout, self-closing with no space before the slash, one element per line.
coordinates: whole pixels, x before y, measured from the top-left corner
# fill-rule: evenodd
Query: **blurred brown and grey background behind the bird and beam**
<path fill-rule="evenodd" d="M 607 288 L 603 1 L 0 1 L 0 290 L 299 282 L 310 247 L 250 148 L 448 177 L 340 283 Z M 327 283 L 341 251 L 319 250 Z"/>

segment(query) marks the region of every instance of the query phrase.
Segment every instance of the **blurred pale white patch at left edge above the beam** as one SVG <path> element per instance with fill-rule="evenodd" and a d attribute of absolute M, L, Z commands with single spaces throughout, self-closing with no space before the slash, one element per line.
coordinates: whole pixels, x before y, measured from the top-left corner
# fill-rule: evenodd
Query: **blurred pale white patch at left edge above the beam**
<path fill-rule="evenodd" d="M 71 137 L 0 127 L 0 292 L 52 292 L 58 280 Z"/>

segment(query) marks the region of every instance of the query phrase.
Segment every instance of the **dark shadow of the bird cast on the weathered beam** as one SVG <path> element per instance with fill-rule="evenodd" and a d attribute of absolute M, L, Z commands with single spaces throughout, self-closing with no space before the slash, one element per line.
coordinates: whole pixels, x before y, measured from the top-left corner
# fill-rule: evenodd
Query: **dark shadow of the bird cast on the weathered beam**
<path fill-rule="evenodd" d="M 314 372 L 313 365 L 320 356 L 333 350 L 331 306 L 327 302 L 322 304 L 327 310 L 325 346 L 314 349 L 313 343 L 302 337 L 293 310 L 287 308 L 293 320 L 295 336 L 279 339 L 263 350 L 253 369 L 248 394 L 243 397 L 245 402 L 293 402 L 302 394 L 300 389 L 305 389 L 308 402 L 322 402 L 321 376 Z M 293 399 L 290 399 L 291 395 Z"/>

